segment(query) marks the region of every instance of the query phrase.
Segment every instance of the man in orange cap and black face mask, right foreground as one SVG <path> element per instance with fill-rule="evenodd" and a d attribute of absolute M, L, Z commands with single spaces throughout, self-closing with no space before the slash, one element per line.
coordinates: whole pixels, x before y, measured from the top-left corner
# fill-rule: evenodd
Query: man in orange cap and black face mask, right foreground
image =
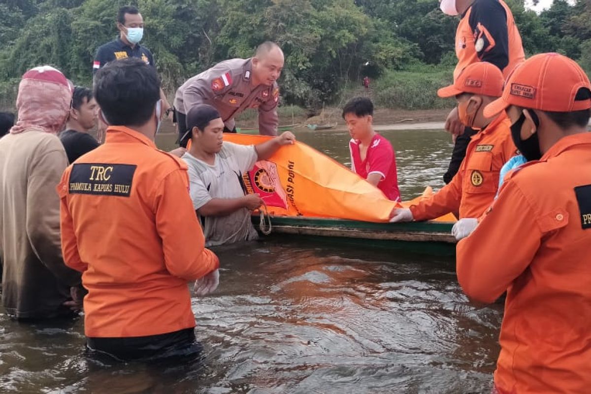
<path fill-rule="evenodd" d="M 559 54 L 531 57 L 486 116 L 506 112 L 528 159 L 457 245 L 466 294 L 505 291 L 495 372 L 498 393 L 591 389 L 591 84 Z"/>

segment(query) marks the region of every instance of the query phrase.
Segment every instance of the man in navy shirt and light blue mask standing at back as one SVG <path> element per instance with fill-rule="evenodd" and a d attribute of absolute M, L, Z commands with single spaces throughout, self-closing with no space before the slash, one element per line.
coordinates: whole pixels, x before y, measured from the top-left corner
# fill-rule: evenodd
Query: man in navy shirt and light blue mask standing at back
<path fill-rule="evenodd" d="M 139 45 L 139 41 L 144 37 L 144 18 L 142 18 L 142 14 L 139 13 L 137 8 L 132 5 L 119 8 L 117 29 L 119 30 L 119 37 L 110 43 L 101 45 L 96 51 L 95 61 L 92 64 L 93 74 L 109 61 L 128 57 L 140 58 L 146 64 L 155 67 L 154 56 L 152 56 L 150 50 Z M 167 116 L 170 114 L 170 117 L 172 117 L 170 104 L 168 104 L 162 89 L 160 89 L 160 99 L 163 101 L 164 114 Z"/>

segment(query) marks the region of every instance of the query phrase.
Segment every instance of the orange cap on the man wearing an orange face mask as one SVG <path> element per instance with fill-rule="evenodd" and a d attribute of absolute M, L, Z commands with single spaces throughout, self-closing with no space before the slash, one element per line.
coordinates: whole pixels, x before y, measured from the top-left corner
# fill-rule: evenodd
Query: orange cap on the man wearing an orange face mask
<path fill-rule="evenodd" d="M 437 90 L 437 96 L 454 97 L 462 93 L 474 93 L 501 97 L 504 82 L 503 73 L 498 67 L 486 61 L 480 61 L 463 69 L 453 85 Z"/>

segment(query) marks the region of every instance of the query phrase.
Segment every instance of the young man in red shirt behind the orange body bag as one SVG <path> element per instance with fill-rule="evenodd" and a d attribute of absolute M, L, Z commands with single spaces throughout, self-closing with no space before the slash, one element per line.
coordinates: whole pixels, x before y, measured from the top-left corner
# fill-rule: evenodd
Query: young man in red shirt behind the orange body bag
<path fill-rule="evenodd" d="M 374 131 L 374 104 L 355 97 L 343 108 L 351 141 L 351 169 L 381 190 L 392 201 L 400 201 L 396 155 L 392 144 Z"/>

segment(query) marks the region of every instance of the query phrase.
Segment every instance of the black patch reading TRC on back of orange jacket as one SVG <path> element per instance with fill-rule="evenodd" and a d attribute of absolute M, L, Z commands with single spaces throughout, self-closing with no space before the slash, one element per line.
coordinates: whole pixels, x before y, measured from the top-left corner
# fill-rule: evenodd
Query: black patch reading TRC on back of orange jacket
<path fill-rule="evenodd" d="M 132 164 L 74 164 L 70 194 L 129 197 L 136 168 Z"/>

